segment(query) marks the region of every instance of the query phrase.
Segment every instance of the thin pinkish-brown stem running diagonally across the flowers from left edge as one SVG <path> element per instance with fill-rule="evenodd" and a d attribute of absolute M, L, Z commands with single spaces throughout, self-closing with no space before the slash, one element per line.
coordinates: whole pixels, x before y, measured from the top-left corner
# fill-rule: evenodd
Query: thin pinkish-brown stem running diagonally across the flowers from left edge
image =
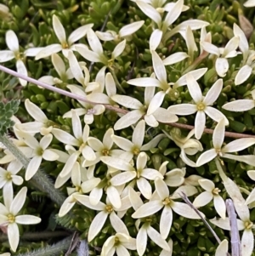
<path fill-rule="evenodd" d="M 92 101 L 89 101 L 87 100 L 85 97 L 82 97 L 82 96 L 79 96 L 77 94 L 72 94 L 70 92 L 67 92 L 63 89 L 60 89 L 60 88 L 55 88 L 54 86 L 51 86 L 51 85 L 48 85 L 47 83 L 45 82 L 40 82 L 40 81 L 37 81 L 36 79 L 33 79 L 31 77 L 26 77 L 16 71 L 12 71 L 10 69 L 8 69 L 7 67 L 4 67 L 3 65 L 0 65 L 0 71 L 4 71 L 14 77 L 19 77 L 21 79 L 24 79 L 26 80 L 27 82 L 31 82 L 31 83 L 34 83 L 34 84 L 37 84 L 38 86 L 41 86 L 42 88 L 46 88 L 48 90 L 51 90 L 51 91 L 54 91 L 58 94 L 63 94 L 67 97 L 70 97 L 72 99 L 76 99 L 76 100 L 81 100 L 81 101 L 84 101 L 84 102 L 88 102 L 92 105 L 98 105 L 100 103 L 97 103 L 97 102 L 92 102 Z M 112 72 L 112 75 L 114 76 L 114 72 Z M 112 105 L 107 105 L 107 104 L 101 104 L 101 105 L 105 105 L 105 108 L 110 110 L 110 111 L 116 111 L 117 113 L 122 113 L 122 114 L 127 114 L 128 111 L 126 110 L 123 110 L 119 107 L 114 107 Z M 177 127 L 177 128 L 184 128 L 184 129 L 189 129 L 189 130 L 192 130 L 194 129 L 194 126 L 193 125 L 188 125 L 188 124 L 184 124 L 184 123 L 178 123 L 178 122 L 171 122 L 171 123 L 167 123 L 167 125 L 169 126 L 173 126 L 173 127 Z M 205 128 L 204 129 L 204 133 L 206 134 L 213 134 L 213 129 L 209 129 L 209 128 Z M 251 135 L 251 134 L 237 134 L 237 133 L 230 133 L 230 132 L 225 132 L 225 137 L 230 137 L 230 138 L 235 138 L 235 139 L 239 139 L 239 138 L 255 138 L 254 135 Z"/>

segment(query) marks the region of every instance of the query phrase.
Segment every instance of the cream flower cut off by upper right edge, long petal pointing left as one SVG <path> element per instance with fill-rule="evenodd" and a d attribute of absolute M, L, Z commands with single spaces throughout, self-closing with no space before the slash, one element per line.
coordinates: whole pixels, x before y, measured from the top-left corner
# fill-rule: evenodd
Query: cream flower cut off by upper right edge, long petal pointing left
<path fill-rule="evenodd" d="M 226 103 L 222 106 L 224 110 L 227 111 L 235 111 L 235 112 L 241 112 L 241 111 L 249 111 L 252 110 L 253 107 L 255 107 L 255 89 L 252 90 L 252 99 L 253 100 L 234 100 L 229 103 Z"/>

